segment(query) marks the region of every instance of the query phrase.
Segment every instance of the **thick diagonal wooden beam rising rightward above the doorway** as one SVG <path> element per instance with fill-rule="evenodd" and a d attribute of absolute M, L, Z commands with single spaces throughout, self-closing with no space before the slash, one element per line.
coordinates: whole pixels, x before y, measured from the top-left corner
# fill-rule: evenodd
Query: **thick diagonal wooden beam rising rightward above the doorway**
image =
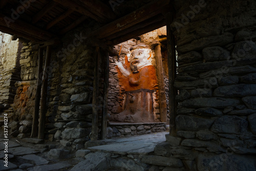
<path fill-rule="evenodd" d="M 127 14 L 114 22 L 107 24 L 100 29 L 96 30 L 93 35 L 96 35 L 99 39 L 108 37 L 124 29 L 132 27 L 144 20 L 156 16 L 162 12 L 162 8 L 166 7 L 169 0 L 157 0 L 150 4 L 147 4 L 138 10 Z"/>

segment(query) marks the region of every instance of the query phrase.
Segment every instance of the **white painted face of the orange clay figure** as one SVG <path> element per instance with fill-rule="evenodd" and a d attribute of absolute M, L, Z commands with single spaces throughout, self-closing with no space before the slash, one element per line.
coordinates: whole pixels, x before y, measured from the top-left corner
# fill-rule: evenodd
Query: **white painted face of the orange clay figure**
<path fill-rule="evenodd" d="M 150 62 L 148 61 L 151 57 L 150 55 L 150 49 L 142 48 L 132 50 L 129 58 L 131 69 L 136 72 L 142 67 L 150 65 Z"/>

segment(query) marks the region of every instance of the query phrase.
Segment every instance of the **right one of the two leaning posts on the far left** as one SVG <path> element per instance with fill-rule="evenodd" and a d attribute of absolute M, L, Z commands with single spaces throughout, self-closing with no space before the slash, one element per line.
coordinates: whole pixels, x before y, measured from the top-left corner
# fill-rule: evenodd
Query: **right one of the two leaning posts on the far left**
<path fill-rule="evenodd" d="M 45 122 L 46 122 L 46 113 L 47 113 L 46 100 L 47 100 L 47 87 L 48 87 L 48 75 L 49 75 L 48 69 L 50 66 L 50 61 L 51 61 L 51 46 L 47 46 L 44 75 L 42 76 L 38 139 L 44 139 L 44 136 L 45 136 Z"/>

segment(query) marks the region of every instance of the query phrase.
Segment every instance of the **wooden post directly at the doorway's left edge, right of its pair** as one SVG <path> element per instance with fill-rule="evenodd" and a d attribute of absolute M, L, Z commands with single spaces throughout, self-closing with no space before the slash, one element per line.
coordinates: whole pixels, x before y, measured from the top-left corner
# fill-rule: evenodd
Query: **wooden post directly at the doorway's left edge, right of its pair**
<path fill-rule="evenodd" d="M 103 110 L 101 117 L 101 139 L 106 139 L 106 127 L 108 121 L 108 95 L 109 95 L 109 73 L 110 73 L 110 61 L 109 52 L 104 51 L 104 86 L 103 86 Z"/>

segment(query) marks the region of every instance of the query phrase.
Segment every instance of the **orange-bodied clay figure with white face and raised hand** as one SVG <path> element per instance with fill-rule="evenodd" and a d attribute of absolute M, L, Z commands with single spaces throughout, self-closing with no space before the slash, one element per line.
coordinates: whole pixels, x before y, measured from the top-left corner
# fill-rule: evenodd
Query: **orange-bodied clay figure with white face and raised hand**
<path fill-rule="evenodd" d="M 124 65 L 117 62 L 121 91 L 125 93 L 123 112 L 112 115 L 119 122 L 155 122 L 153 93 L 158 89 L 151 49 L 139 44 L 125 56 Z"/>

